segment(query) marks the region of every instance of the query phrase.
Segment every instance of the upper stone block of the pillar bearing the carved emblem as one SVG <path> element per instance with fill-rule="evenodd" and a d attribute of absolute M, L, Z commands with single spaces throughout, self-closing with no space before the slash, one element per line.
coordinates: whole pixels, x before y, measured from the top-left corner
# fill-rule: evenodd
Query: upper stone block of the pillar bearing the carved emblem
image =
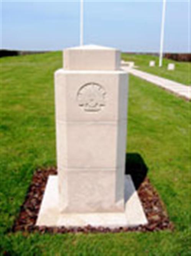
<path fill-rule="evenodd" d="M 117 71 L 55 72 L 56 120 L 127 119 L 128 76 Z"/>

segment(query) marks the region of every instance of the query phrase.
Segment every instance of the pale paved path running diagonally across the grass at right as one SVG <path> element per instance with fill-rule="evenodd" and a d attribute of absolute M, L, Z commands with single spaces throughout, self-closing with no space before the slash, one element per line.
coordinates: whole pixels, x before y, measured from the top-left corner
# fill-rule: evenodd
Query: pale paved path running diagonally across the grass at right
<path fill-rule="evenodd" d="M 137 69 L 133 69 L 131 67 L 122 65 L 122 69 L 127 70 L 130 74 L 140 77 L 148 82 L 156 84 L 157 86 L 162 87 L 173 94 L 178 95 L 186 100 L 191 100 L 191 86 L 187 86 L 184 84 L 179 84 L 177 82 L 171 81 L 169 79 L 165 79 L 162 77 L 158 77 L 157 75 L 151 75 L 147 72 L 143 72 Z M 174 71 L 176 72 L 176 71 Z"/>

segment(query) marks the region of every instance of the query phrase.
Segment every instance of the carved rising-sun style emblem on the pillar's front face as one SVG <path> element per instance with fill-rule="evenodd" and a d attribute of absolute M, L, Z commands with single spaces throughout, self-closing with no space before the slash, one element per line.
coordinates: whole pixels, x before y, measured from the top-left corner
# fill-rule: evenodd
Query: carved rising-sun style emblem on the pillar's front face
<path fill-rule="evenodd" d="M 78 105 L 85 111 L 97 112 L 105 106 L 106 92 L 102 85 L 88 83 L 77 92 Z"/>

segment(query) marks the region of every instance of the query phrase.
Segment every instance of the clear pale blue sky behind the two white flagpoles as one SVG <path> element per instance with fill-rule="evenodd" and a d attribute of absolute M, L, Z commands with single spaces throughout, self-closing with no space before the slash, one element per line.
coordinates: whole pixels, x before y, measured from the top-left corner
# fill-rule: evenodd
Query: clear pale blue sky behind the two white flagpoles
<path fill-rule="evenodd" d="M 79 45 L 79 1 L 9 1 L 2 5 L 2 49 L 61 50 Z M 167 0 L 166 52 L 189 51 L 189 3 Z M 84 44 L 158 52 L 162 0 L 84 2 Z"/>

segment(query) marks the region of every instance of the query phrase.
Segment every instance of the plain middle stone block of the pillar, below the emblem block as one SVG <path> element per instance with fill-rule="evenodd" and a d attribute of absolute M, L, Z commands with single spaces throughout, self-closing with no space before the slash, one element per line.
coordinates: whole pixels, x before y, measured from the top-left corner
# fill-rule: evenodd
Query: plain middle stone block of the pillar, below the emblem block
<path fill-rule="evenodd" d="M 126 120 L 57 122 L 56 131 L 58 167 L 124 167 Z"/>

